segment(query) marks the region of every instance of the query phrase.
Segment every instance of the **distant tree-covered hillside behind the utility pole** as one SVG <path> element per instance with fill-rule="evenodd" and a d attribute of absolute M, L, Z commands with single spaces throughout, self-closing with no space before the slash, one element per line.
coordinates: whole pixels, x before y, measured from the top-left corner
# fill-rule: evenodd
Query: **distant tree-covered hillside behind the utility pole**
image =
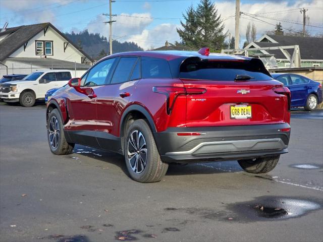
<path fill-rule="evenodd" d="M 109 53 L 109 42 L 106 42 L 106 37 L 100 36 L 98 33 L 89 33 L 87 29 L 80 33 L 65 33 L 75 44 L 82 48 L 93 59 L 98 59 L 102 55 Z M 125 51 L 143 50 L 134 42 L 119 42 L 113 41 L 113 53 Z M 104 50 L 104 52 L 102 52 Z"/>

